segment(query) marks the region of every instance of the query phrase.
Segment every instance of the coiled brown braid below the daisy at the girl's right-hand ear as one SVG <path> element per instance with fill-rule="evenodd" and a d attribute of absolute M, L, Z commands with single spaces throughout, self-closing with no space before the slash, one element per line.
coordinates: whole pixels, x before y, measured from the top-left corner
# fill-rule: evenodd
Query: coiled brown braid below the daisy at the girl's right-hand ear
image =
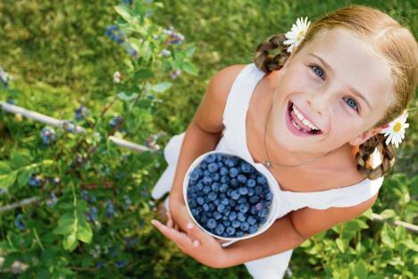
<path fill-rule="evenodd" d="M 382 160 L 380 165 L 373 168 L 370 156 L 375 148 L 380 151 Z M 368 179 L 378 179 L 388 173 L 392 165 L 395 164 L 395 148 L 392 145 L 386 145 L 384 135 L 379 133 L 360 145 L 355 159 L 357 160 L 357 170 L 360 173 L 367 174 Z"/>

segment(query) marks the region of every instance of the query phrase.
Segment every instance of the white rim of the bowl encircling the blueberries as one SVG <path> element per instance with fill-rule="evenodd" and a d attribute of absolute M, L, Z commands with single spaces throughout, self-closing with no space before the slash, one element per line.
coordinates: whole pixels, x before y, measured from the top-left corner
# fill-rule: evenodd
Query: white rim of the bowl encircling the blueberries
<path fill-rule="evenodd" d="M 234 241 L 235 242 L 235 241 L 240 241 L 240 240 L 245 240 L 247 238 L 255 237 L 256 235 L 266 231 L 276 220 L 277 213 L 279 212 L 279 203 L 280 203 L 279 190 L 278 190 L 278 188 L 276 188 L 277 186 L 275 185 L 275 183 L 272 183 L 272 181 L 271 181 L 271 179 L 269 178 L 268 175 L 265 175 L 263 172 L 260 172 L 260 169 L 257 165 L 251 164 L 247 160 L 243 159 L 241 156 L 237 156 L 237 157 L 240 158 L 241 160 L 247 162 L 249 165 L 252 165 L 258 173 L 261 173 L 261 174 L 264 175 L 264 177 L 267 180 L 267 184 L 270 188 L 270 191 L 272 192 L 272 204 L 269 207 L 269 213 L 265 217 L 266 222 L 264 224 L 259 225 L 256 232 L 254 232 L 252 234 L 244 235 L 242 237 L 223 237 L 223 236 L 220 236 L 220 235 L 213 234 L 212 232 L 207 231 L 201 224 L 199 224 L 197 222 L 197 220 L 195 219 L 195 217 L 192 215 L 192 213 L 190 211 L 190 207 L 188 207 L 188 181 L 189 181 L 189 178 L 190 178 L 190 173 L 198 165 L 200 165 L 200 163 L 202 163 L 202 161 L 204 161 L 206 156 L 209 156 L 210 154 L 219 154 L 219 153 L 221 153 L 222 156 L 236 156 L 235 154 L 233 154 L 229 151 L 213 150 L 213 151 L 207 152 L 205 154 L 202 154 L 201 156 L 198 156 L 196 158 L 196 160 L 193 161 L 193 163 L 188 167 L 188 171 L 186 172 L 186 175 L 185 175 L 184 181 L 183 181 L 183 198 L 184 198 L 184 201 L 186 203 L 186 207 L 188 208 L 188 214 L 200 229 L 202 229 L 204 232 L 207 232 L 208 234 L 212 235 L 213 237 L 215 237 L 217 239 L 224 240 L 224 241 Z"/>

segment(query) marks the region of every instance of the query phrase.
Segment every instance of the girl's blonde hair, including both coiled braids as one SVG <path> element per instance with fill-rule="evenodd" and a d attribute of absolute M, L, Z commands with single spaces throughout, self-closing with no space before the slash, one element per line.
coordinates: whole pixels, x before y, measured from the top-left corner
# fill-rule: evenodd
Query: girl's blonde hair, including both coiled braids
<path fill-rule="evenodd" d="M 314 21 L 293 55 L 322 30 L 332 29 L 348 30 L 369 42 L 372 51 L 388 63 L 395 82 L 396 102 L 389 106 L 386 114 L 372 128 L 394 120 L 414 99 L 418 82 L 418 47 L 414 35 L 386 13 L 363 5 L 350 5 Z M 283 44 L 285 40 L 284 34 L 279 34 L 258 45 L 255 65 L 263 72 L 280 70 L 289 56 L 286 51 L 288 46 Z M 270 55 L 269 50 L 276 50 L 278 54 Z M 373 168 L 370 156 L 375 148 L 380 151 L 382 160 L 380 165 Z M 360 173 L 365 173 L 369 179 L 377 179 L 388 173 L 395 163 L 395 148 L 386 145 L 383 134 L 378 133 L 360 145 L 355 158 Z"/>

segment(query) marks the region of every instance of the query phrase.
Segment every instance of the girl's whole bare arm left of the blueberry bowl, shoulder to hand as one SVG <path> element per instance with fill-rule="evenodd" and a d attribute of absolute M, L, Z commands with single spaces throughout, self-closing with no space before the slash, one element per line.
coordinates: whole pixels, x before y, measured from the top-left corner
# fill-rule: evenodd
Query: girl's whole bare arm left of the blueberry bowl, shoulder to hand
<path fill-rule="evenodd" d="M 221 139 L 224 128 L 223 112 L 230 88 L 238 73 L 245 66 L 229 66 L 213 76 L 205 96 L 186 130 L 169 199 L 171 216 L 183 231 L 186 231 L 186 224 L 190 221 L 190 216 L 177 214 L 182 210 L 176 210 L 176 208 L 185 206 L 182 189 L 184 176 L 191 163 L 198 156 L 214 150 Z"/>

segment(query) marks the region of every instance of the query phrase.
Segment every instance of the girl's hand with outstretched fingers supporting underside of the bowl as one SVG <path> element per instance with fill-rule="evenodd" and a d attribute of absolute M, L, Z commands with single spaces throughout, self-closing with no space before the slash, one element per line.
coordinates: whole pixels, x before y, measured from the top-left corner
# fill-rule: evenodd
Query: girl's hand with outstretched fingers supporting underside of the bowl
<path fill-rule="evenodd" d="M 177 244 L 177 246 L 190 257 L 195 258 L 206 266 L 222 268 L 226 266 L 228 259 L 226 250 L 211 235 L 203 232 L 193 223 L 187 226 L 187 233 L 175 229 L 175 224 L 167 211 L 167 224 L 161 224 L 157 220 L 151 223 L 163 233 L 165 237 Z M 193 241 L 194 240 L 194 241 Z"/>

